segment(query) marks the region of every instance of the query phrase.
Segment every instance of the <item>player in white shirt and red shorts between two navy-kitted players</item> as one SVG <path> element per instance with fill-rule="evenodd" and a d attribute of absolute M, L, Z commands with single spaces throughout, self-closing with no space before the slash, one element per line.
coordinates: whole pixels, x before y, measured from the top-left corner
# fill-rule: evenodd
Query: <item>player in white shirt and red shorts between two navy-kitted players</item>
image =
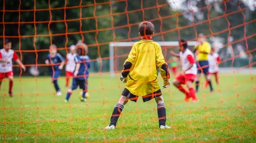
<path fill-rule="evenodd" d="M 71 45 L 69 47 L 70 53 L 68 53 L 66 55 L 66 87 L 69 87 L 69 81 L 70 81 L 70 77 L 73 76 L 73 72 L 75 70 L 76 67 L 76 63 L 75 63 L 75 57 L 76 57 L 76 46 L 75 45 Z"/>

